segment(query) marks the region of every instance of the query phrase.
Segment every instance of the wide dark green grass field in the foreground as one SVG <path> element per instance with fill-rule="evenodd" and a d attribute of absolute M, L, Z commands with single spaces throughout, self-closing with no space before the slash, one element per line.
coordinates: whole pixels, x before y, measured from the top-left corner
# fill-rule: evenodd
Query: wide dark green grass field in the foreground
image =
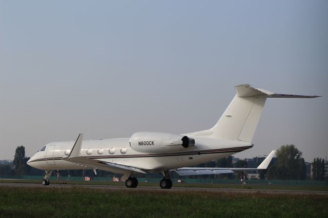
<path fill-rule="evenodd" d="M 0 187 L 0 217 L 327 217 L 319 194 Z"/>

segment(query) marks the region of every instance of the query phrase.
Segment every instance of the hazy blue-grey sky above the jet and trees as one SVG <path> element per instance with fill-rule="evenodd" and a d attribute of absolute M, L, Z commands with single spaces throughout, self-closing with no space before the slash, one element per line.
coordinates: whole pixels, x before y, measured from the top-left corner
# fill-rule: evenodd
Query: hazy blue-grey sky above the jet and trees
<path fill-rule="evenodd" d="M 51 141 L 214 126 L 234 85 L 268 99 L 237 157 L 328 156 L 328 1 L 0 1 L 0 159 Z"/>

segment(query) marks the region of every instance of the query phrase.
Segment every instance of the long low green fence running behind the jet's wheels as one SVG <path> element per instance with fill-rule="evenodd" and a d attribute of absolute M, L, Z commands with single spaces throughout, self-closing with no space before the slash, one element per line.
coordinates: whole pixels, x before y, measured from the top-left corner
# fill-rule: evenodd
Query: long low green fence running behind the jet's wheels
<path fill-rule="evenodd" d="M 0 176 L 0 179 L 21 179 L 21 180 L 42 180 L 43 176 Z M 50 180 L 57 180 L 57 177 L 50 177 Z M 73 180 L 83 181 L 83 177 L 60 177 L 61 181 Z M 161 178 L 138 178 L 139 182 L 159 183 Z M 93 181 L 113 181 L 112 177 L 93 177 Z M 190 184 L 240 184 L 240 180 L 218 180 L 218 179 L 172 179 L 173 183 Z M 246 180 L 248 185 L 285 185 L 285 186 L 325 186 L 328 181 L 313 180 Z"/>

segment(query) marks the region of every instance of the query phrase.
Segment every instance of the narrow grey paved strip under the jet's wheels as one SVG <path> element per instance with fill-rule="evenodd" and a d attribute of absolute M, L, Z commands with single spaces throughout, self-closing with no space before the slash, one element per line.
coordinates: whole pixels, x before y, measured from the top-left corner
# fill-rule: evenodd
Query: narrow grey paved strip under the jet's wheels
<path fill-rule="evenodd" d="M 0 183 L 0 187 L 39 187 L 39 188 L 99 188 L 112 190 L 127 190 L 128 188 L 120 185 L 58 185 L 50 184 L 44 186 L 35 183 Z M 197 188 L 197 187 L 172 187 L 171 189 L 161 189 L 160 187 L 138 186 L 137 188 L 129 188 L 128 190 L 158 190 L 158 191 L 195 191 L 195 192 L 234 192 L 234 193 L 281 193 L 281 194 L 320 194 L 328 195 L 328 191 L 312 191 L 312 190 L 273 190 L 273 189 L 239 189 L 239 188 Z"/>

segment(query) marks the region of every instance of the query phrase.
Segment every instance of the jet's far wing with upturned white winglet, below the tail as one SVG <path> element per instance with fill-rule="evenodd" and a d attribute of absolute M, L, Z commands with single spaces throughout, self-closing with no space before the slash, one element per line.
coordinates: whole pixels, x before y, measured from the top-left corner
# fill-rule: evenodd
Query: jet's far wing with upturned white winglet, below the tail
<path fill-rule="evenodd" d="M 276 150 L 271 151 L 268 157 L 265 158 L 264 161 L 257 168 L 183 167 L 183 168 L 173 169 L 171 171 L 178 173 L 179 176 L 194 176 L 194 175 L 233 173 L 235 171 L 252 171 L 252 170 L 267 169 L 275 153 Z"/>

